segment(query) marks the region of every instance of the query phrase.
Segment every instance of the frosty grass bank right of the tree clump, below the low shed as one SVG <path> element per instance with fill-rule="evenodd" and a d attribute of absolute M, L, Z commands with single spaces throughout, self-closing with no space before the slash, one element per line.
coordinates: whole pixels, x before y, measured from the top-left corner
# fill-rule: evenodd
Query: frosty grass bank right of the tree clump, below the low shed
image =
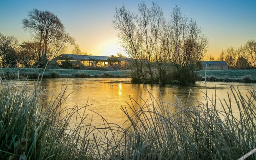
<path fill-rule="evenodd" d="M 197 71 L 204 77 L 205 71 Z M 243 78 L 246 75 L 250 75 L 252 79 L 256 79 L 256 70 L 208 70 L 206 72 L 207 76 L 215 76 L 216 78 Z"/>

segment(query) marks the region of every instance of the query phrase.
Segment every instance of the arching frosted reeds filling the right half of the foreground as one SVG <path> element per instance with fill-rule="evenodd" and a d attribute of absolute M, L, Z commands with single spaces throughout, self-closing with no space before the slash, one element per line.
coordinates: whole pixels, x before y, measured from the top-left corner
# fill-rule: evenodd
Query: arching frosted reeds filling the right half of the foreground
<path fill-rule="evenodd" d="M 256 147 L 256 91 L 252 88 L 248 95 L 242 95 L 233 86 L 230 89 L 222 110 L 217 109 L 216 97 L 212 100 L 206 95 L 208 103 L 190 97 L 180 102 L 176 97 L 177 103 L 170 104 L 150 93 L 150 104 L 138 104 L 131 98 L 128 106 L 122 107 L 131 123 L 124 133 L 125 159 L 240 158 Z M 236 106 L 231 105 L 233 100 Z M 256 159 L 256 154 L 248 159 Z"/>

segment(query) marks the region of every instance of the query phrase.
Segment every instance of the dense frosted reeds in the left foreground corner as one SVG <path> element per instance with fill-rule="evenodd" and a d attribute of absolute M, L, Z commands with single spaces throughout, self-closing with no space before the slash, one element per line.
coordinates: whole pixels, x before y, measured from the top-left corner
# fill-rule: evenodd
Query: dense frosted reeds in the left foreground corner
<path fill-rule="evenodd" d="M 40 81 L 33 88 L 27 86 L 27 81 L 24 85 L 0 83 L 1 160 L 98 157 L 98 137 L 89 136 L 95 128 L 83 123 L 88 118 L 85 112 L 88 105 L 79 109 L 62 106 L 65 93 L 66 88 L 47 102 L 48 95 L 40 87 Z M 72 118 L 76 118 L 76 126 L 69 125 Z"/>

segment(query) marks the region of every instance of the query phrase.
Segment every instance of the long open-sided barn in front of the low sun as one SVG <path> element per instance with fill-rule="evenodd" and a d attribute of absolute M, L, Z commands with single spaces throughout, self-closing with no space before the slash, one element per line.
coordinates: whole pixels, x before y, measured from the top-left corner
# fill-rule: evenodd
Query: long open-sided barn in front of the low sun
<path fill-rule="evenodd" d="M 84 62 L 87 62 L 88 65 L 92 65 L 93 62 L 102 62 L 104 66 L 108 64 L 108 62 L 116 62 L 120 65 L 122 63 L 130 60 L 130 58 L 122 58 L 122 57 L 111 57 L 111 56 L 91 56 L 91 55 L 78 55 L 78 54 L 60 54 L 60 56 L 57 56 L 52 60 L 52 62 L 58 62 L 58 61 L 76 61 L 81 62 L 84 64 Z"/>

